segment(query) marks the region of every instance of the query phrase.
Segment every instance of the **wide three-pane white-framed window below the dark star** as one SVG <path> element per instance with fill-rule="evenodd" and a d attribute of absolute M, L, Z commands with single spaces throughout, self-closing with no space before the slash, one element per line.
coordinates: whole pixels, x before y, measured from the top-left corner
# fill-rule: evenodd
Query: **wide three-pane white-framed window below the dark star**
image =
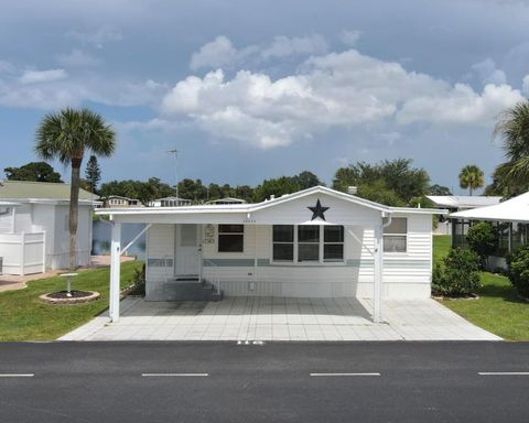
<path fill-rule="evenodd" d="M 343 262 L 344 227 L 274 225 L 272 260 L 298 263 Z"/>

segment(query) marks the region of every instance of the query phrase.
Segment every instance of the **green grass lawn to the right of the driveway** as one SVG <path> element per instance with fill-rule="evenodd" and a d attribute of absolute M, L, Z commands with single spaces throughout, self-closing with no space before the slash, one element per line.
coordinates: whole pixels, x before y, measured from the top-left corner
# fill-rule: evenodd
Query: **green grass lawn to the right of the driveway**
<path fill-rule="evenodd" d="M 433 238 L 433 260 L 440 262 L 449 252 L 450 236 Z M 443 300 L 441 303 L 505 339 L 529 340 L 529 303 L 517 297 L 509 280 L 503 275 L 482 272 L 479 300 Z"/>

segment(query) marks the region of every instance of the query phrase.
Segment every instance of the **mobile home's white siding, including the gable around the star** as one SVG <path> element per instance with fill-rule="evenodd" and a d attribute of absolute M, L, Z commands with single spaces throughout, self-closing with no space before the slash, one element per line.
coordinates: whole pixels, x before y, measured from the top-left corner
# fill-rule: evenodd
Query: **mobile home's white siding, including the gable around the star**
<path fill-rule="evenodd" d="M 314 206 L 317 199 L 322 206 L 330 207 L 325 212 L 328 223 L 346 226 L 344 263 L 271 262 L 271 225 L 310 223 L 312 212 L 307 207 Z M 398 213 L 395 217 L 408 218 L 407 252 L 385 253 L 385 295 L 428 297 L 432 254 L 431 215 Z M 205 215 L 201 214 L 199 218 L 205 218 Z M 226 224 L 242 223 L 240 217 L 233 215 L 217 215 L 215 219 L 226 219 Z M 187 216 L 185 221 L 193 223 L 193 216 Z M 245 216 L 245 243 L 240 253 L 218 252 L 217 225 L 214 225 L 215 236 L 208 242 L 203 242 L 202 274 L 210 281 L 218 280 L 226 295 L 373 296 L 374 227 L 380 224 L 379 210 L 334 196 L 314 194 L 255 212 L 251 216 Z M 172 224 L 154 224 L 149 230 L 148 299 L 163 300 L 163 282 L 173 275 L 174 234 Z M 204 227 L 202 234 L 205 234 Z"/>

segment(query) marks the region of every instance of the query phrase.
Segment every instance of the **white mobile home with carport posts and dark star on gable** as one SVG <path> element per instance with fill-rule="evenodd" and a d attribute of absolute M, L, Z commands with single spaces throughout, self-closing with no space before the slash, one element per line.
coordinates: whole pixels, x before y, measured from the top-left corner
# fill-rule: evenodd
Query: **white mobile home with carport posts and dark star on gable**
<path fill-rule="evenodd" d="M 432 214 L 326 187 L 259 204 L 107 209 L 114 223 L 110 314 L 119 316 L 120 227 L 147 224 L 147 300 L 204 281 L 224 295 L 430 296 Z M 220 295 L 222 296 L 222 295 Z"/>

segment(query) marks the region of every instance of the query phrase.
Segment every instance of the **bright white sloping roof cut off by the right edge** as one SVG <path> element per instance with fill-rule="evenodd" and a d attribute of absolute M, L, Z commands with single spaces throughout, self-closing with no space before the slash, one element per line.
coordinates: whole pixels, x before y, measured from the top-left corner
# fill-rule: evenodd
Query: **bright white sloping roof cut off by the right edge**
<path fill-rule="evenodd" d="M 494 206 L 452 213 L 449 217 L 472 220 L 529 223 L 529 193 Z"/>

